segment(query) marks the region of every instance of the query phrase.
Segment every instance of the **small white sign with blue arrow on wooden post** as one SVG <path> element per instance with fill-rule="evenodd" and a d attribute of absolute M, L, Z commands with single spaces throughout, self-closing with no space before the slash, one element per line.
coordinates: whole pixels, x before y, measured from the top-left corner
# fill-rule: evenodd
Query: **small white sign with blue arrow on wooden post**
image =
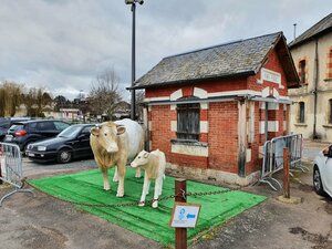
<path fill-rule="evenodd" d="M 175 203 L 169 227 L 196 227 L 200 204 Z"/>

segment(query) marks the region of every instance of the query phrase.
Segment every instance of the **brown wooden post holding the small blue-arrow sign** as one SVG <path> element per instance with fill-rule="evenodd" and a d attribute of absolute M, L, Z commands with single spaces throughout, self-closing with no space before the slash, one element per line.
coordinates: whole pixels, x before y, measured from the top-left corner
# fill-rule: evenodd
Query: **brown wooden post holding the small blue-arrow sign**
<path fill-rule="evenodd" d="M 186 198 L 183 194 L 187 193 L 186 179 L 176 178 L 175 179 L 175 201 L 186 203 Z M 178 196 L 178 194 L 180 194 Z M 187 228 L 175 228 L 175 248 L 176 249 L 187 249 Z"/>

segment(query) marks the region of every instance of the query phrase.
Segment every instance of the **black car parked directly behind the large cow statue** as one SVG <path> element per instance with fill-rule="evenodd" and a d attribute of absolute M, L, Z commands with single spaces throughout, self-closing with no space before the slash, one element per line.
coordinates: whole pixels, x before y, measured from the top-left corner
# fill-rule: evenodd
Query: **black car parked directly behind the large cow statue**
<path fill-rule="evenodd" d="M 53 162 L 69 163 L 81 157 L 92 157 L 90 146 L 90 129 L 93 124 L 75 124 L 56 137 L 33 143 L 28 146 L 28 157 L 38 163 Z"/>

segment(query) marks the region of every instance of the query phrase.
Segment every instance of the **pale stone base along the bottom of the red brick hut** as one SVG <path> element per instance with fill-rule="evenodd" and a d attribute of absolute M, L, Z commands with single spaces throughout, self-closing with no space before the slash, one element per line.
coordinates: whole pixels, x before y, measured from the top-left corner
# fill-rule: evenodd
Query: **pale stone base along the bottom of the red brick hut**
<path fill-rule="evenodd" d="M 251 173 L 246 177 L 240 177 L 238 174 L 221 172 L 216 169 L 206 169 L 206 168 L 195 168 L 195 167 L 185 167 L 176 164 L 167 164 L 166 168 L 172 170 L 176 170 L 181 175 L 198 178 L 198 179 L 215 179 L 218 181 L 224 181 L 226 184 L 239 185 L 239 186 L 248 186 L 250 184 L 257 183 L 260 178 L 260 172 Z"/>

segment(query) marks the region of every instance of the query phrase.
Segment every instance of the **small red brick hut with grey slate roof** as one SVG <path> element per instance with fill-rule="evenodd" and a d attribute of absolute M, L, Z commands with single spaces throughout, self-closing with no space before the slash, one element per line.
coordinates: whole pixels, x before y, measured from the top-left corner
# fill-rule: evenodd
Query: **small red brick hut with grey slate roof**
<path fill-rule="evenodd" d="M 288 132 L 298 74 L 281 32 L 164 58 L 145 89 L 149 148 L 186 174 L 247 185 L 263 143 Z"/>

